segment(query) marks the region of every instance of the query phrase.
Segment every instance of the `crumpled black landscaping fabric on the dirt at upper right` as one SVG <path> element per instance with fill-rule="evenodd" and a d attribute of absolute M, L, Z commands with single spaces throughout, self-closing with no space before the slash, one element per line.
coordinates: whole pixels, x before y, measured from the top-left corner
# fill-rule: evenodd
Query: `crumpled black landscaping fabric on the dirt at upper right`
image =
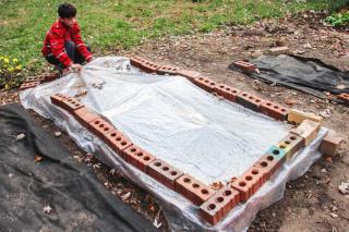
<path fill-rule="evenodd" d="M 332 94 L 349 93 L 349 72 L 325 64 L 318 59 L 298 56 L 261 56 L 250 61 L 256 64 L 260 73 L 249 73 L 263 82 L 285 85 L 298 90 L 326 98 Z M 230 69 L 236 70 L 233 64 Z"/>

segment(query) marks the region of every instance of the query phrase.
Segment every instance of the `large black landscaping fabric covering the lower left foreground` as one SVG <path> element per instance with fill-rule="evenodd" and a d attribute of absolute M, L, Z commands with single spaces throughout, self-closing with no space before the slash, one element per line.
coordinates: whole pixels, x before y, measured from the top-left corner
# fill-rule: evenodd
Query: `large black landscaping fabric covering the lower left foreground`
<path fill-rule="evenodd" d="M 0 129 L 0 231 L 156 231 L 19 105 Z"/>

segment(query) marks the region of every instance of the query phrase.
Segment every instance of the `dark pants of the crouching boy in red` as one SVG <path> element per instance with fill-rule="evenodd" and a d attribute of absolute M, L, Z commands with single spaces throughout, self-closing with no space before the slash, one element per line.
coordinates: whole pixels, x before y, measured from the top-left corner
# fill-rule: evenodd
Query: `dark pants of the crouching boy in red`
<path fill-rule="evenodd" d="M 85 61 L 85 58 L 79 53 L 75 48 L 75 44 L 73 41 L 65 42 L 65 52 L 68 57 L 73 61 L 73 63 L 82 64 Z M 89 46 L 86 46 L 87 50 L 91 51 Z M 55 64 L 59 71 L 62 71 L 65 66 L 56 58 L 53 54 L 49 54 L 46 57 L 46 60 L 50 64 Z"/>

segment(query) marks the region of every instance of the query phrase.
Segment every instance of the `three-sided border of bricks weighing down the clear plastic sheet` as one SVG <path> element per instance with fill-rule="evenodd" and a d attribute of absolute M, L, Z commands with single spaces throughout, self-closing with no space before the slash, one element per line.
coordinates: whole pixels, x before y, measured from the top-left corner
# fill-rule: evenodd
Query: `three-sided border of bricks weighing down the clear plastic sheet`
<path fill-rule="evenodd" d="M 216 83 L 198 72 L 172 65 L 160 65 L 140 57 L 130 58 L 130 62 L 147 73 L 181 75 L 213 95 L 237 102 L 275 120 L 287 120 L 291 124 L 300 123 L 297 129 L 291 130 L 285 138 L 264 152 L 242 175 L 236 178 L 232 183 L 218 191 L 213 191 L 193 176 L 157 159 L 154 155 L 133 144 L 105 118 L 83 106 L 79 99 L 60 94 L 50 97 L 53 105 L 70 112 L 83 126 L 103 139 L 127 162 L 198 206 L 202 219 L 210 224 L 218 223 L 236 205 L 244 203 L 253 196 L 287 159 L 292 158 L 294 154 L 316 137 L 321 127 L 322 118 L 289 110 L 231 86 Z M 239 64 L 243 64 L 246 72 L 251 72 L 252 68 L 249 63 L 240 62 Z"/>

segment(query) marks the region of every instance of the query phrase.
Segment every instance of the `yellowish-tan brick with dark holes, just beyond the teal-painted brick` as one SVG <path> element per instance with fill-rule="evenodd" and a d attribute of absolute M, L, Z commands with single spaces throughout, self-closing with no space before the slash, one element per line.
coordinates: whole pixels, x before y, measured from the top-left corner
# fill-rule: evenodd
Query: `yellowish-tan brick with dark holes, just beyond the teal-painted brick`
<path fill-rule="evenodd" d="M 291 159 L 296 152 L 298 152 L 304 144 L 304 138 L 296 134 L 288 134 L 276 146 L 286 151 L 287 159 Z"/>

